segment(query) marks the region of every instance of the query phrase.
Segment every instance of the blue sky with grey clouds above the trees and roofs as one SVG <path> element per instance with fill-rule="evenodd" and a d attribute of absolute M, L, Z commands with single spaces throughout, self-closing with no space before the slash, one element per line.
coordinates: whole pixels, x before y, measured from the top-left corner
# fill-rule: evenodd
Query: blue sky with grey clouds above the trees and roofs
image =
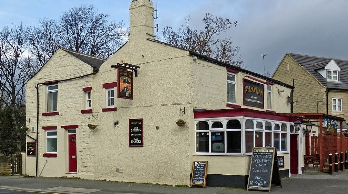
<path fill-rule="evenodd" d="M 156 4 L 156 0 L 152 0 Z M 0 29 L 6 25 L 36 25 L 39 19 L 59 19 L 64 11 L 92 4 L 109 20 L 129 26 L 131 0 L 0 0 Z M 158 0 L 159 33 L 165 26 L 202 27 L 214 16 L 238 21 L 222 36 L 240 47 L 245 68 L 273 73 L 286 52 L 348 60 L 347 0 Z M 263 65 L 262 54 L 265 56 Z"/>

